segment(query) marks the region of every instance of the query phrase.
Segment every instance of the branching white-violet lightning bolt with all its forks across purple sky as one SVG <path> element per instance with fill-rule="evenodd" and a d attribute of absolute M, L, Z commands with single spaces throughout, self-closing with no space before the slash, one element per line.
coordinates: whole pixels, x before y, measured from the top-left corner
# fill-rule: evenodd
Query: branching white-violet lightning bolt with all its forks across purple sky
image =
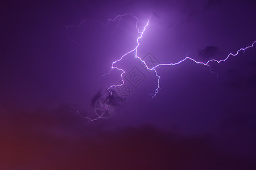
<path fill-rule="evenodd" d="M 134 16 L 133 14 L 130 14 L 130 13 L 128 13 L 128 14 L 123 14 L 123 15 L 118 15 L 118 16 L 116 16 L 114 19 L 108 19 L 108 22 L 106 22 L 106 23 L 102 23 L 102 22 L 99 22 L 99 21 L 97 21 L 97 20 L 90 20 L 90 21 L 99 22 L 99 23 L 101 23 L 101 24 L 103 24 L 103 25 L 108 25 L 110 22 L 114 22 L 115 20 L 118 20 L 117 25 L 115 26 L 115 30 L 114 30 L 114 32 L 115 32 L 115 31 L 117 30 L 117 27 L 118 27 L 118 24 L 119 24 L 121 18 L 122 18 L 123 16 L 127 16 L 127 15 L 130 15 L 130 16 L 132 16 L 133 18 L 137 19 L 137 22 L 136 22 L 136 24 L 135 24 L 135 27 L 137 28 L 138 33 L 140 33 L 140 36 L 137 38 L 137 46 L 135 46 L 135 48 L 132 49 L 132 50 L 130 50 L 129 52 L 123 54 L 123 56 L 121 56 L 121 58 L 119 58 L 119 59 L 117 59 L 116 61 L 114 61 L 114 62 L 112 63 L 112 67 L 111 67 L 111 70 L 109 71 L 109 73 L 106 73 L 106 74 L 102 75 L 102 76 L 105 76 L 105 75 L 107 75 L 107 74 L 110 74 L 110 72 L 111 72 L 113 69 L 121 70 L 121 71 L 122 71 L 122 73 L 121 73 L 121 80 L 122 80 L 122 83 L 119 84 L 119 85 L 112 85 L 112 86 L 110 86 L 110 87 L 107 89 L 107 90 L 110 92 L 110 95 L 112 95 L 112 93 L 113 93 L 112 91 L 110 91 L 110 88 L 112 88 L 112 87 L 120 87 L 120 86 L 122 86 L 122 85 L 125 83 L 124 80 L 123 80 L 123 74 L 125 74 L 126 72 L 125 72 L 125 70 L 123 70 L 123 69 L 121 69 L 121 68 L 115 66 L 115 63 L 121 61 L 125 56 L 127 56 L 127 54 L 130 54 L 130 53 L 135 52 L 135 58 L 138 58 L 141 62 L 143 62 L 144 65 L 146 66 L 146 68 L 147 68 L 148 70 L 155 72 L 155 75 L 158 77 L 158 81 L 157 81 L 158 83 L 157 83 L 157 87 L 156 87 L 156 89 L 155 89 L 154 94 L 151 94 L 151 95 L 152 95 L 152 98 L 154 98 L 154 97 L 156 96 L 156 94 L 158 94 L 158 91 L 159 91 L 159 88 L 160 88 L 160 86 L 159 86 L 160 83 L 159 83 L 159 82 L 160 82 L 160 78 L 161 78 L 160 75 L 158 75 L 158 73 L 157 73 L 157 71 L 156 71 L 156 68 L 157 68 L 157 67 L 159 67 L 159 66 L 175 66 L 175 65 L 179 65 L 180 63 L 182 63 L 182 62 L 184 62 L 184 61 L 186 61 L 186 60 L 189 59 L 189 60 L 191 60 L 191 61 L 193 61 L 193 62 L 195 62 L 195 63 L 197 63 L 197 64 L 208 66 L 208 67 L 209 67 L 209 70 L 210 70 L 210 73 L 216 74 L 216 75 L 218 76 L 217 73 L 214 73 L 214 72 L 211 70 L 210 65 L 209 65 L 210 62 L 217 62 L 217 63 L 225 62 L 229 57 L 231 57 L 231 56 L 232 56 L 232 57 L 235 57 L 235 56 L 237 56 L 238 53 L 241 52 L 241 51 L 243 51 L 243 53 L 244 53 L 246 49 L 249 49 L 249 48 L 253 47 L 254 44 L 256 43 L 256 41 L 254 41 L 250 46 L 246 46 L 245 48 L 238 49 L 237 52 L 234 53 L 234 54 L 233 54 L 233 53 L 229 53 L 228 56 L 227 56 L 225 59 L 221 59 L 221 60 L 210 59 L 210 60 L 207 61 L 207 62 L 200 62 L 200 61 L 196 61 L 195 59 L 193 59 L 193 58 L 191 58 L 191 57 L 186 56 L 184 59 L 181 59 L 179 62 L 175 62 L 175 63 L 160 63 L 159 65 L 156 65 L 156 66 L 154 66 L 154 67 L 152 67 L 152 68 L 150 69 L 150 68 L 147 66 L 147 63 L 146 63 L 145 61 L 143 61 L 143 59 L 142 59 L 141 57 L 137 56 L 137 51 L 138 51 L 138 48 L 139 48 L 139 40 L 142 39 L 142 36 L 143 36 L 144 31 L 146 31 L 146 28 L 147 28 L 147 26 L 148 26 L 148 24 L 149 24 L 149 19 L 147 20 L 147 24 L 144 26 L 143 31 L 139 31 L 139 28 L 138 28 L 139 19 L 138 19 L 136 16 Z M 80 27 L 80 26 L 81 26 L 83 23 L 85 23 L 85 22 L 86 22 L 86 20 L 84 20 L 83 22 L 81 22 L 81 23 L 80 23 L 79 25 L 77 25 L 77 26 L 69 25 L 69 26 L 67 26 L 66 28 L 67 28 L 67 29 L 70 28 L 70 27 L 77 28 L 77 27 Z M 113 34 L 114 32 L 112 32 L 112 34 Z M 70 37 L 69 37 L 69 39 L 70 39 L 71 41 L 76 42 L 75 40 L 71 39 Z M 76 42 L 76 43 L 77 43 L 77 42 Z M 77 113 L 79 113 L 79 112 L 77 112 Z M 100 119 L 101 117 L 97 117 L 97 118 L 94 118 L 94 119 L 91 119 L 91 118 L 89 118 L 89 117 L 84 117 L 84 118 L 88 118 L 90 121 L 94 121 L 94 120 Z"/>

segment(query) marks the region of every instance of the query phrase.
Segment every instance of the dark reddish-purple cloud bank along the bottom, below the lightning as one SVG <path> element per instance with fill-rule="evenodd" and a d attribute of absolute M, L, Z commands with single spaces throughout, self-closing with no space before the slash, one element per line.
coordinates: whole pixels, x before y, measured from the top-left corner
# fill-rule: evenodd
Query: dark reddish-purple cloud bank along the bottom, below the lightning
<path fill-rule="evenodd" d="M 82 135 L 95 129 L 67 115 L 65 119 L 69 121 L 64 121 L 64 117 L 39 117 L 26 114 L 21 119 L 9 120 L 12 124 L 4 127 L 1 124 L 1 169 L 249 170 L 256 167 L 255 157 L 248 159 L 219 150 L 212 144 L 211 135 L 183 137 L 152 126 Z"/>

